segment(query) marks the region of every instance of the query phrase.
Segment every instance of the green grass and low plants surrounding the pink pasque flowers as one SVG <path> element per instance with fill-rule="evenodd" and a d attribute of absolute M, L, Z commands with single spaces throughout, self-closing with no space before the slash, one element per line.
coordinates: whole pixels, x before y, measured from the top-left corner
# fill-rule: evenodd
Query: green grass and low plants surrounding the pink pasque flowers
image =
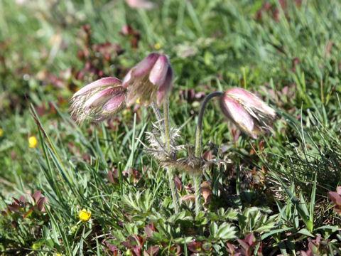
<path fill-rule="evenodd" d="M 341 178 L 341 4 L 269 4 L 266 11 L 261 0 L 165 0 L 146 11 L 124 1 L 2 1 L 0 210 L 37 190 L 48 205 L 47 213 L 0 218 L 1 254 L 105 255 L 110 249 L 131 255 L 146 238 L 142 250 L 157 246 L 158 255 L 191 255 L 199 247 L 202 255 L 227 255 L 227 242 L 240 249 L 250 233 L 255 255 L 261 246 L 263 255 L 300 255 L 318 235 L 325 242 L 315 255 L 340 253 L 340 215 L 328 191 Z M 89 41 L 81 28 L 87 23 Z M 124 24 L 139 31 L 137 48 L 119 35 Z M 92 48 L 105 41 L 123 51 L 105 60 Z M 84 49 L 89 56 L 78 58 Z M 272 136 L 234 138 L 217 102 L 209 103 L 202 151 L 233 164 L 207 171 L 212 199 L 197 217 L 193 203 L 175 214 L 166 173 L 139 141 L 156 121 L 151 109 L 131 108 L 110 123 L 82 126 L 68 112 L 75 88 L 99 78 L 98 70 L 123 78 L 153 51 L 169 55 L 173 65 L 171 125 L 181 128 L 179 144 L 194 144 L 200 107 L 180 90 L 244 87 L 278 113 Z M 98 70 L 87 70 L 87 63 Z M 33 149 L 31 136 L 38 139 Z M 190 194 L 190 176 L 176 176 L 180 195 Z M 89 222 L 78 218 L 82 208 L 92 211 Z"/>

